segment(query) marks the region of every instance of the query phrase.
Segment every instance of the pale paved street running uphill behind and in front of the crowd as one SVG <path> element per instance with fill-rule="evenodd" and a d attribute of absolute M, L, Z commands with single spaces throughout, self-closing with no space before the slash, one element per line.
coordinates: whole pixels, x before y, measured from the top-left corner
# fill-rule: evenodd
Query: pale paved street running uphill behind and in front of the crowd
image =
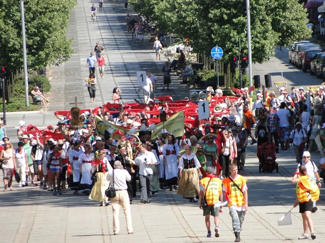
<path fill-rule="evenodd" d="M 151 69 L 162 83 L 160 70 L 164 57 L 162 61 L 155 61 L 148 35 L 144 43 L 137 44 L 126 30 L 125 15 L 129 11 L 135 13 L 130 8 L 126 10 L 122 1 L 105 2 L 103 11 L 98 12 L 97 20 L 92 22 L 88 12 L 90 6 L 91 1 L 79 0 L 72 12 L 69 36 L 74 38 L 75 53 L 65 64 L 51 69 L 49 108 L 41 112 L 7 113 L 7 133 L 14 143 L 17 141 L 15 134 L 19 120 L 39 128 L 56 124 L 58 120 L 53 112 L 69 109 L 72 106 L 69 103 L 74 102 L 75 96 L 82 102 L 79 105 L 81 108 L 99 106 L 112 101 L 113 88 L 118 86 L 123 91 L 121 96 L 124 103 L 132 102 L 134 98 L 142 99 L 135 92 L 136 71 Z M 105 59 L 109 65 L 105 69 L 105 79 L 98 79 L 96 102 L 91 104 L 84 79 L 89 74 L 86 58 L 94 49 L 96 41 L 106 49 Z M 269 65 L 254 65 L 254 75 L 260 74 L 262 83 L 264 74 L 278 73 L 282 69 L 290 85 L 306 87 L 303 85 L 306 80 L 312 85 L 322 82 L 309 73 L 304 74 L 290 67 L 287 50 L 282 50 L 283 53 L 278 51 Z M 179 85 L 179 82 L 179 77 L 172 77 L 170 94 L 174 100 L 188 96 L 189 90 Z M 158 95 L 167 94 L 160 90 L 157 91 Z M 296 168 L 293 150 L 277 154 L 279 173 L 274 171 L 271 174 L 259 173 L 256 145 L 249 145 L 248 151 L 246 170 L 242 174 L 248 179 L 249 210 L 241 233 L 242 242 L 301 242 L 297 240 L 303 232 L 298 208 L 292 210 L 292 225 L 277 226 L 277 219 L 292 208 L 295 200 L 295 185 L 291 184 Z M 318 163 L 320 154 L 312 153 L 311 156 Z M 2 178 L 2 171 L 0 176 Z M 62 196 L 52 196 L 52 193 L 38 187 L 16 186 L 14 182 L 14 191 L 2 192 L 3 184 L 0 184 L 0 243 L 226 243 L 234 242 L 235 239 L 227 208 L 220 215 L 220 238 L 207 238 L 204 217 L 198 204 L 187 202 L 176 191 L 161 190 L 153 196 L 150 204 L 140 203 L 138 191 L 131 205 L 134 234 L 127 234 L 121 209 L 120 235 L 114 236 L 112 206 L 99 207 L 99 203 L 81 194 L 73 195 L 71 191 Z M 317 236 L 313 243 L 325 242 L 324 193 L 322 187 L 321 199 L 317 203 L 318 211 L 312 214 Z"/>

